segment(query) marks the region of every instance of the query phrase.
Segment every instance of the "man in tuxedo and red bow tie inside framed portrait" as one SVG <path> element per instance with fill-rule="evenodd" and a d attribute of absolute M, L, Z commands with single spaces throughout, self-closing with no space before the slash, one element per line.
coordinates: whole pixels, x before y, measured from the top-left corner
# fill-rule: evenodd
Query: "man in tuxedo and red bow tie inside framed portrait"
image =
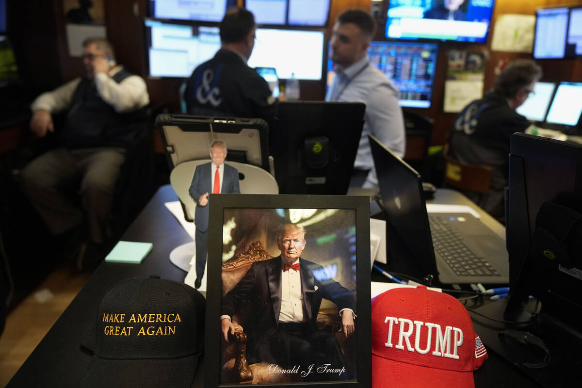
<path fill-rule="evenodd" d="M 318 330 L 315 323 L 321 300 L 338 307 L 340 331 L 348 337 L 355 330 L 352 291 L 331 279 L 321 265 L 301 257 L 305 229 L 294 224 L 281 227 L 277 245 L 281 255 L 254 262 L 222 298 L 221 326 L 226 341 L 235 333 L 235 309 L 250 301 L 247 360 L 267 362 L 305 381 L 350 379 L 351 365 L 343 361 L 333 334 Z"/>

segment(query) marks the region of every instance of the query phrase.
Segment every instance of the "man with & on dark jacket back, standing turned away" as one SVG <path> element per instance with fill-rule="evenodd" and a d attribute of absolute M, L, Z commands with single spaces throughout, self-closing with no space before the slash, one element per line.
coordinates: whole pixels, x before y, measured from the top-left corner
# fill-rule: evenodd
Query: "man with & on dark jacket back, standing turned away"
<path fill-rule="evenodd" d="M 198 116 L 264 119 L 269 127 L 276 99 L 256 70 L 247 66 L 254 48 L 253 13 L 233 6 L 220 24 L 222 47 L 214 58 L 196 67 L 187 80 L 184 100 L 187 111 Z M 279 95 L 283 101 L 284 95 Z"/>

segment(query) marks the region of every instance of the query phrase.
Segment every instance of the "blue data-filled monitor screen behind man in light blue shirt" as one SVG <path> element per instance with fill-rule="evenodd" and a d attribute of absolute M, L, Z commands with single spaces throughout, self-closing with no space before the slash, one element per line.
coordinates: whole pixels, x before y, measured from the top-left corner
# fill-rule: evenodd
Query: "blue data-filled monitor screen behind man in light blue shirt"
<path fill-rule="evenodd" d="M 368 48 L 368 58 L 398 88 L 400 106 L 430 108 L 437 52 L 438 45 L 435 43 L 372 41 Z M 328 88 L 331 87 L 333 77 L 333 62 L 329 59 Z"/>

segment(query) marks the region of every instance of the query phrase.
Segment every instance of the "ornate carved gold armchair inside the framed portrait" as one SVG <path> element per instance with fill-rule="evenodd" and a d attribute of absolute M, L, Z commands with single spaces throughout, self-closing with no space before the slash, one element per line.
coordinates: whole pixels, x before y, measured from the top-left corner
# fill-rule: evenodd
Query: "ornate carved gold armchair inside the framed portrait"
<path fill-rule="evenodd" d="M 249 270 L 251 264 L 257 261 L 271 259 L 273 256 L 267 252 L 260 241 L 254 241 L 249 245 L 249 249 L 222 264 L 222 292 L 224 297 Z M 250 303 L 241 305 L 233 315 L 235 334 L 230 336 L 227 343 L 224 339 L 222 344 L 222 382 L 225 384 L 280 384 L 300 382 L 293 380 L 294 375 L 285 373 L 272 373 L 268 362 L 257 362 L 249 365 L 246 358 L 247 333 L 244 332 L 244 323 L 251 314 Z M 341 328 L 341 318 L 338 309 L 320 309 L 317 316 L 317 327 L 329 333 L 336 333 L 335 337 L 346 357 L 352 357 L 355 351 L 355 344 L 348 343 L 343 333 L 338 333 Z M 295 375 L 296 376 L 296 375 Z"/>

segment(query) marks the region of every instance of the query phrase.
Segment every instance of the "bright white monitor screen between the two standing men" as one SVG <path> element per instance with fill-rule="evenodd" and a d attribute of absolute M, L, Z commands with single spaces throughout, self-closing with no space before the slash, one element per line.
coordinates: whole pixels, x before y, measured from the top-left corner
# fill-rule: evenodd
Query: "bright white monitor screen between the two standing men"
<path fill-rule="evenodd" d="M 281 79 L 321 80 L 324 33 L 314 30 L 257 29 L 250 67 L 275 67 Z"/>

